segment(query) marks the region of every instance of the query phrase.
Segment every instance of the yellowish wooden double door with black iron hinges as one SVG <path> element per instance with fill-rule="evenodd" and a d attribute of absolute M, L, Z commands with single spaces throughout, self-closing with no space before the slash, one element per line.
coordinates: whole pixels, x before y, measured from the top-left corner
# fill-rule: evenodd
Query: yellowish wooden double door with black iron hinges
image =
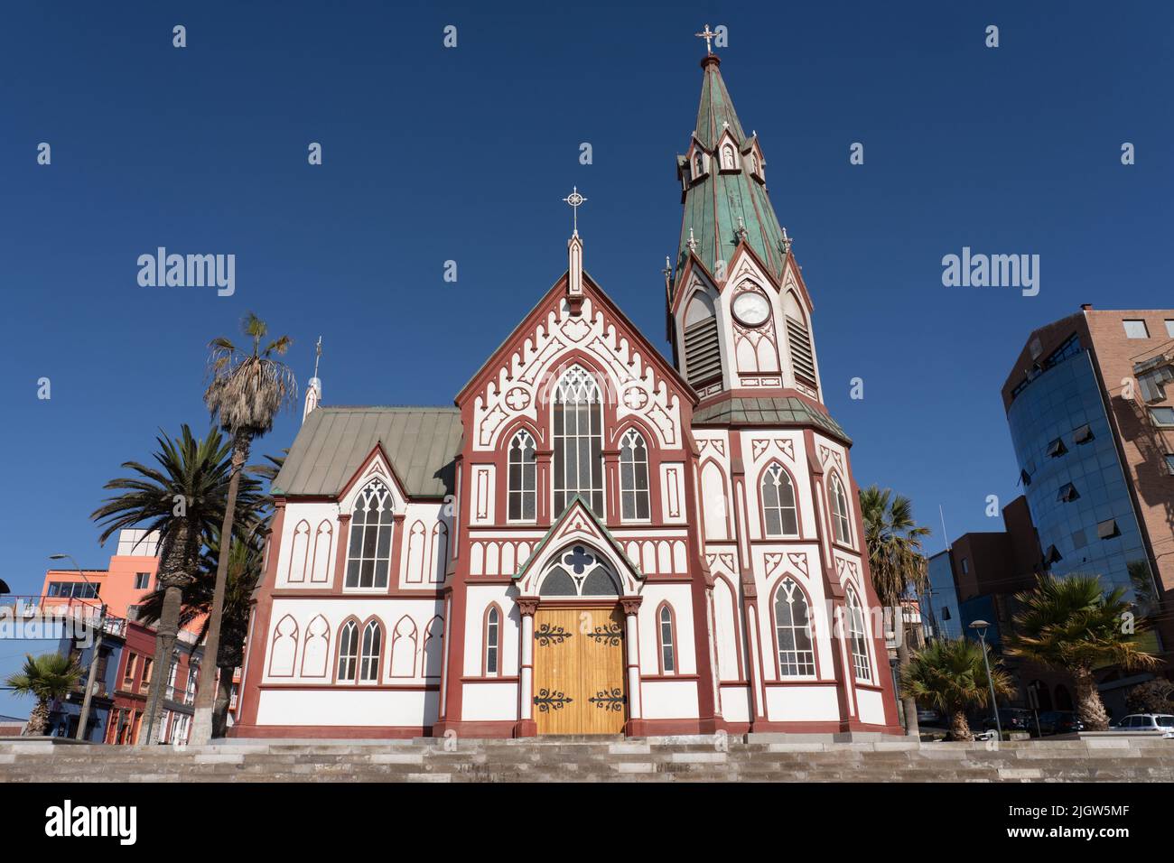
<path fill-rule="evenodd" d="M 628 717 L 623 613 L 539 608 L 533 716 L 539 734 L 621 734 Z"/>

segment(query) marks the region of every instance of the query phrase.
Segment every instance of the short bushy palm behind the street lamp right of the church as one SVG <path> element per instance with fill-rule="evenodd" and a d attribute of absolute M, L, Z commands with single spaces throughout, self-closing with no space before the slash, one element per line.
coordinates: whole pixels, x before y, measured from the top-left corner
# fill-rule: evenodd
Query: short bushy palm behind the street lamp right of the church
<path fill-rule="evenodd" d="M 997 695 L 1011 695 L 1016 690 L 1011 676 L 993 658 L 987 680 L 983 649 L 971 639 L 939 639 L 917 653 L 900 673 L 902 696 L 949 713 L 953 740 L 974 739 L 966 710 L 986 706 L 992 682 Z"/>

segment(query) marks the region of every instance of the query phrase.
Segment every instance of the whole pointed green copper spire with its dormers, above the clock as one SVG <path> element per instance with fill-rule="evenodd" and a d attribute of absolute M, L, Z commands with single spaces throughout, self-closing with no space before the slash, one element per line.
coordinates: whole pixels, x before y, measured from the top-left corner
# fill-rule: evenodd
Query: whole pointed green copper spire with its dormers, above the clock
<path fill-rule="evenodd" d="M 762 150 L 756 137 L 748 137 L 742 130 L 720 65 L 715 54 L 701 61 L 703 77 L 697 127 L 689 153 L 677 156 L 684 218 L 676 278 L 681 277 L 690 249 L 714 274 L 718 261 L 729 265 L 743 238 L 767 270 L 781 278 L 785 258 L 783 230 L 767 196 Z M 700 174 L 699 154 L 702 156 Z"/>

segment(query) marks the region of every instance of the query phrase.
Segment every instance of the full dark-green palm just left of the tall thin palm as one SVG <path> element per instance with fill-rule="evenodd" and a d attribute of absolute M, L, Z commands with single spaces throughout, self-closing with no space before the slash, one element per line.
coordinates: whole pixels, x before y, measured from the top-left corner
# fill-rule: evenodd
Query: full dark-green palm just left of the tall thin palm
<path fill-rule="evenodd" d="M 155 466 L 124 461 L 134 476 L 112 479 L 103 487 L 122 492 L 107 498 L 93 518 L 103 525 L 99 538 L 106 542 L 126 527 L 157 532 L 160 562 L 156 581 L 164 598 L 155 636 L 155 658 L 163 670 L 151 676 L 147 696 L 147 735 L 153 740 L 155 721 L 162 710 L 167 683 L 167 661 L 180 632 L 183 587 L 195 578 L 204 538 L 211 535 L 224 517 L 228 493 L 230 450 L 215 429 L 197 439 L 184 425 L 180 437 L 164 433 L 155 438 L 158 450 Z"/>

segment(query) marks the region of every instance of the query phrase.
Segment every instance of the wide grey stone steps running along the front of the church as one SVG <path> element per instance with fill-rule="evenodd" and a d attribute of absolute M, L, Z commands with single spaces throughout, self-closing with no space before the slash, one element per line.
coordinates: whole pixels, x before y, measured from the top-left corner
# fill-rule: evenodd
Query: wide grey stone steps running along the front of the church
<path fill-rule="evenodd" d="M 0 781 L 1032 782 L 1174 781 L 1174 741 L 831 743 L 730 736 L 625 740 L 224 742 L 209 747 L 0 742 Z M 451 748 L 446 748 L 451 747 Z"/>

